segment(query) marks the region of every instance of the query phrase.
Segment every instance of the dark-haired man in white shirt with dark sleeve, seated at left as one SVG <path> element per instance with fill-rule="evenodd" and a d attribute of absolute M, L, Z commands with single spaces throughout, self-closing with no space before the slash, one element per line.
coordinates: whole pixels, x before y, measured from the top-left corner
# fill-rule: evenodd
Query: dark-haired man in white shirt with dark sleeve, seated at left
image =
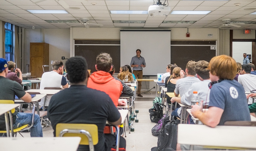
<path fill-rule="evenodd" d="M 68 88 L 68 83 L 63 74 L 63 62 L 62 61 L 54 61 L 52 64 L 53 71 L 46 72 L 42 75 L 40 88 L 44 89 L 45 87 L 60 87 L 62 85 L 63 88 Z M 45 106 L 49 105 L 50 99 L 52 96 L 46 96 Z M 39 102 L 40 106 L 44 105 L 44 98 Z"/>

